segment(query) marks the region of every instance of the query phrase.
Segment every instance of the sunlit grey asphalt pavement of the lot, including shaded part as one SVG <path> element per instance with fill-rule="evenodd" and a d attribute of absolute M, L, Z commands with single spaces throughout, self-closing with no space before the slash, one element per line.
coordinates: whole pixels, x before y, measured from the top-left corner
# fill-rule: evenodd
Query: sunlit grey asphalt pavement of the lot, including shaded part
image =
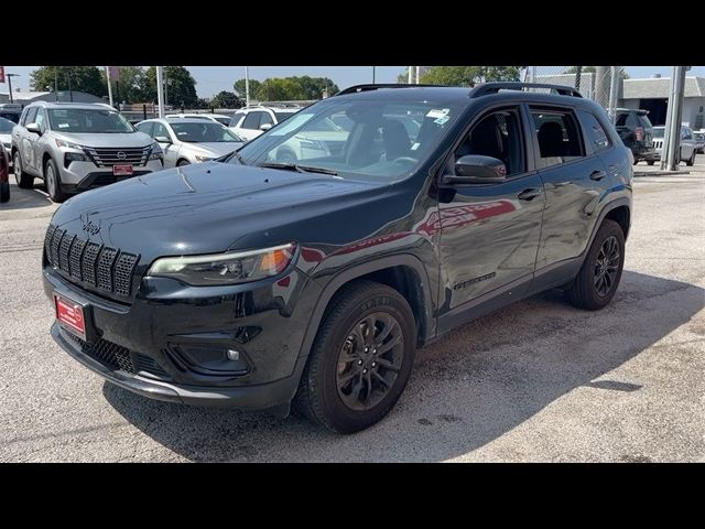
<path fill-rule="evenodd" d="M 11 193 L 0 205 L 2 462 L 705 461 L 705 155 L 690 174 L 634 180 L 611 305 L 583 312 L 549 292 L 465 325 L 419 353 L 386 420 L 348 436 L 297 417 L 150 401 L 69 358 L 50 337 L 41 283 L 55 206 L 39 180 Z"/>

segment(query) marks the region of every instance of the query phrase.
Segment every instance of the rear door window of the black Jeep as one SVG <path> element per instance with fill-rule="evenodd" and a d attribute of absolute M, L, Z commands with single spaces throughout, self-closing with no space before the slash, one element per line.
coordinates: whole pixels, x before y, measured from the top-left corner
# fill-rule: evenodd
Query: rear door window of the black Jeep
<path fill-rule="evenodd" d="M 583 142 L 573 112 L 531 107 L 540 166 L 550 168 L 577 160 L 584 155 Z"/>

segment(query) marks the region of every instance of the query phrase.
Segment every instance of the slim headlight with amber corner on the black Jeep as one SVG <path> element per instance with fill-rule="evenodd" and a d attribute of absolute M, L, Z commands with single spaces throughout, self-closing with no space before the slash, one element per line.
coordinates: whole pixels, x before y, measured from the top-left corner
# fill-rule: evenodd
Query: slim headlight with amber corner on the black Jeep
<path fill-rule="evenodd" d="M 154 261 L 148 276 L 173 278 L 198 287 L 247 283 L 284 271 L 295 248 L 289 244 L 213 256 L 164 257 Z"/>

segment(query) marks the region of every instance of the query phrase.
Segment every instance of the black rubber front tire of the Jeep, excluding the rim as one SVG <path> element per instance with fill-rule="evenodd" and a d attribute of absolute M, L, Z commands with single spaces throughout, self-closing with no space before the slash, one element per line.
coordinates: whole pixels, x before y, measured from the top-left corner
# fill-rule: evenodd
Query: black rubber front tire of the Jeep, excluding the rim
<path fill-rule="evenodd" d="M 392 389 L 377 406 L 364 411 L 351 410 L 343 403 L 338 395 L 336 377 L 338 355 L 349 330 L 362 317 L 373 312 L 388 312 L 399 322 L 404 339 L 402 365 Z M 319 393 L 322 411 L 337 431 L 352 432 L 365 429 L 384 417 L 406 387 L 415 353 L 413 313 L 403 299 L 400 301 L 394 295 L 379 295 L 351 305 L 346 311 L 345 315 L 336 323 L 335 331 L 328 335 L 325 343 L 317 344 L 318 347 L 321 349 L 316 350 L 316 354 L 322 355 L 321 368 L 316 370 L 317 380 L 313 382 L 322 388 Z"/>

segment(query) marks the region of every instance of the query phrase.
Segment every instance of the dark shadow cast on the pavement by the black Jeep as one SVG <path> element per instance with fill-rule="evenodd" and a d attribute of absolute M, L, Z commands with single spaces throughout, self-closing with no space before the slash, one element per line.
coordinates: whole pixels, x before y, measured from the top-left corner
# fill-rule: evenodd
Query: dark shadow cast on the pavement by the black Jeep
<path fill-rule="evenodd" d="M 639 379 L 616 380 L 610 371 L 704 305 L 696 285 L 627 270 L 603 311 L 574 309 L 557 291 L 516 303 L 420 350 L 397 407 L 355 435 L 295 415 L 152 401 L 108 382 L 104 395 L 144 434 L 191 461 L 443 461 L 500 438 L 576 388 L 595 391 L 596 400 L 641 390 Z"/>

